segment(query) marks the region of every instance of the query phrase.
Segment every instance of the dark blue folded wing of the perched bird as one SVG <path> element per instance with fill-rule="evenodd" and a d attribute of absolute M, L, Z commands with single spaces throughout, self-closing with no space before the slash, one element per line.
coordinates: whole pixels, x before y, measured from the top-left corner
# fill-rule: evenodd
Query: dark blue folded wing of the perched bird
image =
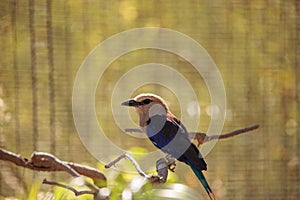
<path fill-rule="evenodd" d="M 148 121 L 147 136 L 163 152 L 199 170 L 206 170 L 202 155 L 189 140 L 186 129 L 178 123 L 178 120 L 165 115 L 152 116 Z"/>

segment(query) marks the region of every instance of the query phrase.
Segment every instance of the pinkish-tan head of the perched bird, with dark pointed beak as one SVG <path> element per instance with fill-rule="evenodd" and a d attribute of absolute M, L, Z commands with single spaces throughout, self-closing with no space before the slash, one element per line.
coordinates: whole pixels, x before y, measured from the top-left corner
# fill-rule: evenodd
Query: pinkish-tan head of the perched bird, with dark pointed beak
<path fill-rule="evenodd" d="M 135 107 L 141 127 L 146 126 L 149 118 L 154 115 L 171 115 L 165 100 L 151 93 L 139 94 L 133 99 L 123 102 L 122 105 Z"/>

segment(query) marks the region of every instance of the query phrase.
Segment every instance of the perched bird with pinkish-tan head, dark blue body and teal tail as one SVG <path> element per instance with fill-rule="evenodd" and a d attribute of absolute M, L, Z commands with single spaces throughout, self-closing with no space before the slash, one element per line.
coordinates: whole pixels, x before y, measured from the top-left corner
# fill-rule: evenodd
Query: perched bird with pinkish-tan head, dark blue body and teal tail
<path fill-rule="evenodd" d="M 170 111 L 166 101 L 152 93 L 142 93 L 121 103 L 134 107 L 139 125 L 155 147 L 191 167 L 210 199 L 215 199 L 203 170 L 207 164 L 196 145 L 191 142 L 183 123 Z"/>

